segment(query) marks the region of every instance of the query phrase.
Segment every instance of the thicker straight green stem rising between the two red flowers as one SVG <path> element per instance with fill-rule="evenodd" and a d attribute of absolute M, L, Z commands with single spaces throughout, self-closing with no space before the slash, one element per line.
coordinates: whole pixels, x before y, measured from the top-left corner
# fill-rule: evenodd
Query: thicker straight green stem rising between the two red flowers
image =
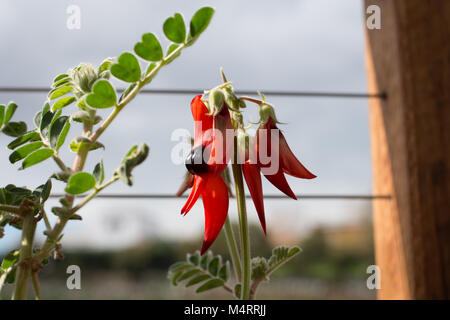
<path fill-rule="evenodd" d="M 235 141 L 235 155 L 237 142 Z M 241 236 L 241 254 L 242 254 L 242 282 L 241 282 L 241 300 L 250 298 L 250 239 L 248 234 L 247 207 L 245 204 L 244 184 L 242 178 L 242 168 L 237 161 L 233 161 L 233 177 L 236 188 L 236 200 L 239 213 L 239 228 Z"/>

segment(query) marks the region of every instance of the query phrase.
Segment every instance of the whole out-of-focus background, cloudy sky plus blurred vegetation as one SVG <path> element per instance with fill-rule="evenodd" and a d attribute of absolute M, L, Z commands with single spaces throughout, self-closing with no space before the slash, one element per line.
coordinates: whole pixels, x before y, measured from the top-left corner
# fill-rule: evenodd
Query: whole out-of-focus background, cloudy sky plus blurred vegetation
<path fill-rule="evenodd" d="M 81 28 L 69 30 L 70 5 L 81 10 Z M 216 8 L 199 41 L 161 70 L 149 88 L 209 89 L 220 83 L 219 67 L 240 90 L 365 93 L 364 9 L 359 0 L 273 1 L 23 1 L 0 2 L 0 87 L 49 87 L 52 79 L 80 62 L 98 65 L 106 57 L 132 48 L 145 32 L 162 43 L 162 23 L 174 12 L 185 20 L 201 6 Z M 124 83 L 114 82 L 117 88 Z M 318 178 L 288 178 L 297 194 L 370 195 L 371 161 L 367 99 L 267 97 L 292 150 Z M 32 119 L 45 93 L 0 92 L 0 103 L 14 100 L 14 120 Z M 192 132 L 192 96 L 139 95 L 102 136 L 106 150 L 91 153 L 86 171 L 104 159 L 106 176 L 136 143 L 150 145 L 149 159 L 134 173 L 134 186 L 116 183 L 108 193 L 174 194 L 185 172 L 171 161 L 172 132 Z M 74 107 L 71 107 L 74 108 Z M 248 108 L 253 108 L 249 105 Z M 256 108 L 255 108 L 256 109 Z M 257 119 L 249 110 L 250 120 Z M 106 113 L 105 113 L 106 114 Z M 78 131 L 77 131 L 78 130 Z M 78 135 L 73 125 L 70 137 Z M 0 182 L 34 188 L 55 166 L 48 161 L 18 171 L 8 161 L 6 145 L 0 157 Z M 61 157 L 74 154 L 64 147 Z M 54 191 L 64 185 L 54 183 Z M 264 183 L 266 194 L 279 194 Z M 49 208 L 56 200 L 48 202 Z M 167 267 L 200 248 L 204 217 L 200 203 L 186 216 L 184 203 L 167 199 L 96 199 L 81 211 L 83 221 L 71 221 L 62 240 L 65 259 L 51 261 L 41 272 L 42 296 L 80 298 L 228 298 L 219 289 L 195 295 L 171 287 Z M 252 254 L 270 255 L 270 247 L 298 245 L 303 252 L 263 284 L 259 298 L 373 299 L 366 287 L 366 268 L 374 263 L 370 200 L 266 200 L 267 236 L 249 203 Z M 237 221 L 236 204 L 229 211 Z M 54 221 L 54 217 L 51 217 Z M 43 229 L 36 233 L 43 241 Z M 0 239 L 0 257 L 18 248 L 20 233 L 7 227 Z M 223 235 L 211 248 L 227 255 Z M 66 288 L 66 268 L 82 270 L 82 290 Z M 2 297 L 9 296 L 7 288 Z"/>

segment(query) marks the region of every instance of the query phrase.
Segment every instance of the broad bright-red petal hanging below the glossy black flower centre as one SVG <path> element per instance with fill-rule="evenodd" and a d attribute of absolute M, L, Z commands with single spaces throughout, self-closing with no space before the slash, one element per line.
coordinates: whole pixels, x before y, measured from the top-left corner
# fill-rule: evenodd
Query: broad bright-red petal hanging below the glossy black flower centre
<path fill-rule="evenodd" d="M 228 189 L 221 176 L 208 177 L 202 200 L 205 208 L 205 235 L 201 254 L 216 240 L 228 214 Z"/>

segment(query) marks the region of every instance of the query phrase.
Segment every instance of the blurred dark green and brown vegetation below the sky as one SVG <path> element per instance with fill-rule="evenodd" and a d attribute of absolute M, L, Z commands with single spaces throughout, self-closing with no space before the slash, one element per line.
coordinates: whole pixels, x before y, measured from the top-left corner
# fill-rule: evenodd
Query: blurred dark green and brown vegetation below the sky
<path fill-rule="evenodd" d="M 237 230 L 237 226 L 234 226 Z M 252 256 L 269 257 L 280 243 L 265 237 L 259 225 L 250 226 Z M 65 250 L 63 260 L 52 260 L 41 271 L 41 288 L 47 299 L 228 299 L 219 289 L 207 296 L 193 290 L 172 287 L 166 278 L 168 267 L 183 260 L 186 253 L 200 248 L 200 238 L 169 241 L 152 238 L 133 247 L 115 251 Z M 369 222 L 339 228 L 318 228 L 296 243 L 302 252 L 271 277 L 271 284 L 261 286 L 259 298 L 370 299 L 366 269 L 374 264 L 372 229 Z M 211 247 L 215 254 L 229 259 L 225 237 L 219 236 Z M 83 290 L 66 288 L 67 266 L 82 270 Z M 181 289 L 181 290 L 180 290 Z M 8 297 L 8 289 L 1 298 Z M 30 290 L 31 291 L 31 290 Z M 31 294 L 31 293 L 30 293 Z M 31 296 L 30 296 L 31 297 Z"/>

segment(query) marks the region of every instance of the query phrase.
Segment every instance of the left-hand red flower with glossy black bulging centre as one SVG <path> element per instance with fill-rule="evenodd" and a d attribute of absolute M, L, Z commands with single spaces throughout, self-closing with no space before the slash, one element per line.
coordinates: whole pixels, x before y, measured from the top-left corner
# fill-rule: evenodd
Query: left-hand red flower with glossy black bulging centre
<path fill-rule="evenodd" d="M 226 131 L 232 130 L 225 103 L 208 110 L 196 96 L 191 102 L 195 121 L 194 145 L 186 159 L 186 168 L 193 176 L 191 193 L 181 209 L 186 215 L 201 196 L 205 210 L 205 234 L 201 254 L 206 252 L 222 230 L 228 214 L 229 195 L 222 171 L 227 167 L 230 153 Z M 232 146 L 231 146 L 232 147 Z"/>

